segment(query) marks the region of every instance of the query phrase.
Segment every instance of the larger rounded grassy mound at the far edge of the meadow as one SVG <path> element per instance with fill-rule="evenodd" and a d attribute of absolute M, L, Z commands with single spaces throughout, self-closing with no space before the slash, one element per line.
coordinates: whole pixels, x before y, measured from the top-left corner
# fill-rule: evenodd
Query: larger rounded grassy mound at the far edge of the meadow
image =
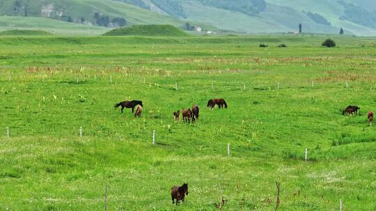
<path fill-rule="evenodd" d="M 135 25 L 123 28 L 116 28 L 107 33 L 106 36 L 161 36 L 161 37 L 182 37 L 187 36 L 179 28 L 171 25 Z"/>

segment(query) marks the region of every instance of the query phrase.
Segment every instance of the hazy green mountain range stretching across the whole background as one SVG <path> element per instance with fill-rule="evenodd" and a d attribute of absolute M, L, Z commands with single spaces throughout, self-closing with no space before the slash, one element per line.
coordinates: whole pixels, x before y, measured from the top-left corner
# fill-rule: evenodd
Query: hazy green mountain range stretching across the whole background
<path fill-rule="evenodd" d="M 2 0 L 0 15 L 106 27 L 183 28 L 189 22 L 240 33 L 293 33 L 301 23 L 306 33 L 338 33 L 344 28 L 345 33 L 376 35 L 376 2 L 367 0 Z"/>

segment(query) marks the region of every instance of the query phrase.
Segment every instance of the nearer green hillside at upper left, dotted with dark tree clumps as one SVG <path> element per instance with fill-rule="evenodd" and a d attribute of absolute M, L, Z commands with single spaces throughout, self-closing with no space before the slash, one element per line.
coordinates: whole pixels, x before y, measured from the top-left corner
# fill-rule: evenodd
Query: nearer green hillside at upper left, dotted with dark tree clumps
<path fill-rule="evenodd" d="M 97 16 L 99 15 L 99 18 L 95 18 L 95 13 Z M 161 15 L 137 5 L 111 0 L 1 0 L 0 15 L 47 17 L 65 22 L 102 26 L 119 25 L 116 18 L 125 19 L 127 25 L 172 24 L 182 26 L 184 24 L 171 16 Z"/>

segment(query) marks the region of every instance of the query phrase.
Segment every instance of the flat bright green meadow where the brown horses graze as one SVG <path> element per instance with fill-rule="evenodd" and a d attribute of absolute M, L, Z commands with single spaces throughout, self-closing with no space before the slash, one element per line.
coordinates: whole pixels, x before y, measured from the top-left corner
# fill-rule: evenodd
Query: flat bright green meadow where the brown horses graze
<path fill-rule="evenodd" d="M 0 37 L 0 210 L 376 210 L 375 38 L 326 38 Z"/>

